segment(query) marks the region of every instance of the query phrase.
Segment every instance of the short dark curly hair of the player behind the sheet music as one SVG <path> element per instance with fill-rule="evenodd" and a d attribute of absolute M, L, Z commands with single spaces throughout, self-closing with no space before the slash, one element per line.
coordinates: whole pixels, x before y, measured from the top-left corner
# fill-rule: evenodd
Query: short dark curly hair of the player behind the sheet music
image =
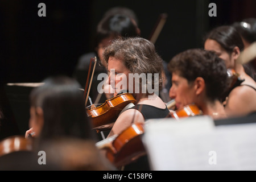
<path fill-rule="evenodd" d="M 186 78 L 189 84 L 197 77 L 204 78 L 207 97 L 212 101 L 221 100 L 222 94 L 228 89 L 225 61 L 212 51 L 188 49 L 173 57 L 168 69 Z"/>

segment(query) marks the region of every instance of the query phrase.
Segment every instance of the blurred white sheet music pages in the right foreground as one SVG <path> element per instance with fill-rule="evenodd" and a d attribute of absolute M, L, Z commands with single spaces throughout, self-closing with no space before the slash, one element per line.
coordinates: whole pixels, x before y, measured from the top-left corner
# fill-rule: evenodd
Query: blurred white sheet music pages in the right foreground
<path fill-rule="evenodd" d="M 143 142 L 156 171 L 256 170 L 256 123 L 214 126 L 205 115 L 150 119 Z"/>

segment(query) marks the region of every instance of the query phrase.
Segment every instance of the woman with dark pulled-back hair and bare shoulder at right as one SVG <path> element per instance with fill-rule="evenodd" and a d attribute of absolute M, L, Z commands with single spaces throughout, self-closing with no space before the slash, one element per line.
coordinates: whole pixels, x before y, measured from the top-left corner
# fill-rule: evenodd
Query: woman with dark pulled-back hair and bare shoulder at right
<path fill-rule="evenodd" d="M 244 116 L 256 111 L 256 83 L 237 61 L 243 47 L 240 34 L 232 26 L 214 28 L 205 37 L 204 48 L 214 51 L 225 61 L 226 68 L 234 69 L 245 80 L 228 95 L 225 110 L 229 117 Z"/>

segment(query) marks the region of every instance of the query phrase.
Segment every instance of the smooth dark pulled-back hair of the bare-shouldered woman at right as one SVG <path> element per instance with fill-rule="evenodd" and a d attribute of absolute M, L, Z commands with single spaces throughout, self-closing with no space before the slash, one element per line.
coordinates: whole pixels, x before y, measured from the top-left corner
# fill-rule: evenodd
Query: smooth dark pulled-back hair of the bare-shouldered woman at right
<path fill-rule="evenodd" d="M 240 34 L 236 28 L 232 26 L 220 26 L 213 28 L 213 30 L 204 37 L 204 42 L 207 39 L 215 40 L 228 53 L 232 53 L 234 47 L 236 46 L 240 49 L 240 51 L 242 51 L 244 48 Z"/>

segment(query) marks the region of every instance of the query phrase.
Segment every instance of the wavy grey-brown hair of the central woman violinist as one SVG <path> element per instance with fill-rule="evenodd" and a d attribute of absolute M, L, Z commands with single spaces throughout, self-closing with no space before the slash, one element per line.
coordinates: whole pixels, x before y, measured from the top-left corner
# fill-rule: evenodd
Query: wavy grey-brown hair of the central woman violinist
<path fill-rule="evenodd" d="M 155 81 L 159 83 L 158 89 L 162 88 L 163 60 L 156 52 L 154 44 L 149 40 L 138 37 L 115 39 L 105 48 L 103 56 L 102 64 L 106 67 L 109 57 L 115 57 L 122 60 L 131 73 L 138 73 L 139 75 L 146 73 L 147 81 L 149 80 L 148 73 L 151 73 L 152 88 L 155 86 Z M 155 73 L 158 74 L 159 80 L 155 80 Z"/>

